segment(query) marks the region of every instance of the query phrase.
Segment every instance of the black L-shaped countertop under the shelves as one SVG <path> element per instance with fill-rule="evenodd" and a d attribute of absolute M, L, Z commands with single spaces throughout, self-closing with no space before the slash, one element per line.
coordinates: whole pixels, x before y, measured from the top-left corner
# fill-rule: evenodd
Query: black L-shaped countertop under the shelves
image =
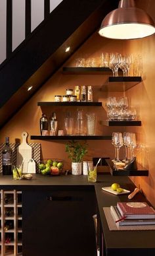
<path fill-rule="evenodd" d="M 133 191 L 135 185 L 129 177 L 98 175 L 97 183 L 87 181 L 87 176 L 43 176 L 33 175 L 31 180 L 14 180 L 12 176 L 0 174 L 0 189 L 95 189 L 99 207 L 100 223 L 104 233 L 104 243 L 107 256 L 153 256 L 155 255 L 155 230 L 145 231 L 110 231 L 103 212 L 103 207 L 116 205 L 118 201 L 129 201 L 127 195 L 112 195 L 102 191 L 112 183 L 120 183 L 124 189 Z M 141 193 L 137 193 L 131 201 L 146 201 Z"/>

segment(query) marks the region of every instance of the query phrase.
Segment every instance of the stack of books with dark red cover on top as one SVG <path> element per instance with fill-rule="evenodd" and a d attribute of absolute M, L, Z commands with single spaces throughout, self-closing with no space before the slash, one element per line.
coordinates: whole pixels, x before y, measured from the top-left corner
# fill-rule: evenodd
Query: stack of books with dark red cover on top
<path fill-rule="evenodd" d="M 118 202 L 110 212 L 118 226 L 155 225 L 155 210 L 145 202 Z"/>

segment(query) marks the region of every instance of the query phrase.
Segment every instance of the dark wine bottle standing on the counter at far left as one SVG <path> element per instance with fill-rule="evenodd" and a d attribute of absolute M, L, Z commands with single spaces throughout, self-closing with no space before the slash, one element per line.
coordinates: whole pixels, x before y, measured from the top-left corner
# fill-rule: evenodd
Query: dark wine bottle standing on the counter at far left
<path fill-rule="evenodd" d="M 9 146 L 9 137 L 6 137 L 5 148 L 2 151 L 3 175 L 12 174 L 12 149 Z"/>

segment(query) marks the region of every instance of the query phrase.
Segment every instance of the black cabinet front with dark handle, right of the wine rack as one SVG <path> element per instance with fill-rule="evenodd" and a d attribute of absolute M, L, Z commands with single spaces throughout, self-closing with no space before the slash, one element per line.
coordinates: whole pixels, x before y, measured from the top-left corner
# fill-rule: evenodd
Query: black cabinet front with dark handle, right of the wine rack
<path fill-rule="evenodd" d="M 95 256 L 95 191 L 23 191 L 24 256 Z"/>

